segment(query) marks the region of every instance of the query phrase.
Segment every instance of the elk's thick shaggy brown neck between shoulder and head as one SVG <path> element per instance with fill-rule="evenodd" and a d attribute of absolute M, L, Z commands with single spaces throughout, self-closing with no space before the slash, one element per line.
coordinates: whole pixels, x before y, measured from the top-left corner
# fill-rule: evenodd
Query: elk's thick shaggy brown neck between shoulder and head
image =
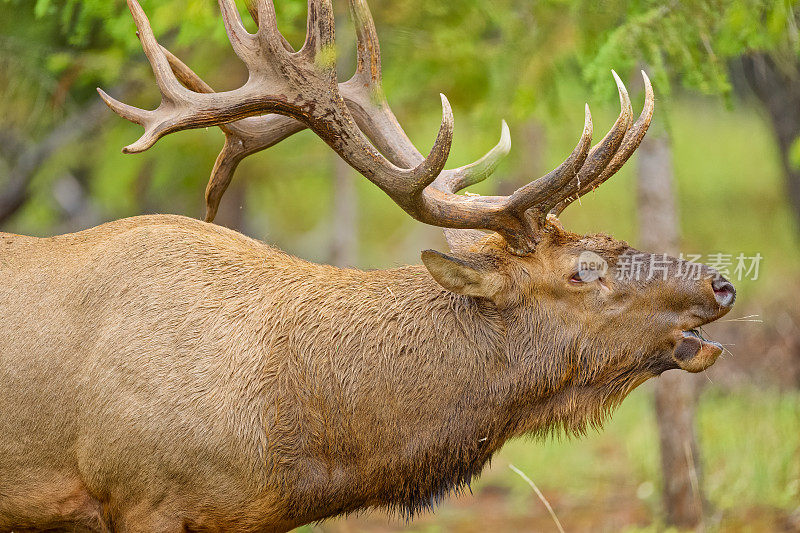
<path fill-rule="evenodd" d="M 264 276 L 259 388 L 264 461 L 287 516 L 431 508 L 510 437 L 560 423 L 548 398 L 575 400 L 545 383 L 552 365 L 527 364 L 530 324 L 444 290 L 421 266 L 285 268 L 281 256 Z"/>

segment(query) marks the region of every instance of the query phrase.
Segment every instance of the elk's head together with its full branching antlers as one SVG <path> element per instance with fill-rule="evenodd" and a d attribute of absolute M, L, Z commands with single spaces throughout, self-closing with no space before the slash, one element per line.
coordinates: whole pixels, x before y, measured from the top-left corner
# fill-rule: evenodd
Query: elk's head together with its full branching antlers
<path fill-rule="evenodd" d="M 595 403 L 611 406 L 648 377 L 670 368 L 697 372 L 714 362 L 721 347 L 697 328 L 730 310 L 735 291 L 727 280 L 708 267 L 641 254 L 605 235 L 570 233 L 557 218 L 639 146 L 654 109 L 644 73 L 645 103 L 637 119 L 614 73 L 621 112 L 599 143 L 591 144 L 587 106 L 577 146 L 556 169 L 508 196 L 461 195 L 508 152 L 508 127 L 503 122 L 499 143 L 481 159 L 445 170 L 453 117 L 442 95 L 439 133 L 423 156 L 381 90 L 380 47 L 365 0 L 349 3 L 358 62 L 355 75 L 338 83 L 335 65 L 320 60 L 334 39 L 330 0 L 309 0 L 307 38 L 298 51 L 278 32 L 271 1 L 249 6 L 258 24 L 251 34 L 234 1 L 219 0 L 233 49 L 250 76 L 239 89 L 215 93 L 158 44 L 139 4 L 128 0 L 162 103 L 147 111 L 100 91 L 115 112 L 145 128 L 124 152 L 146 150 L 182 129 L 222 128 L 225 146 L 206 189 L 211 221 L 239 161 L 310 128 L 413 218 L 449 228 L 451 253 L 427 250 L 423 263 L 448 291 L 493 303 L 513 340 L 512 359 L 549 369 L 540 373 L 545 379 L 528 382 L 534 394 L 584 387 L 601 396 Z M 632 262 L 644 266 L 633 272 Z"/>

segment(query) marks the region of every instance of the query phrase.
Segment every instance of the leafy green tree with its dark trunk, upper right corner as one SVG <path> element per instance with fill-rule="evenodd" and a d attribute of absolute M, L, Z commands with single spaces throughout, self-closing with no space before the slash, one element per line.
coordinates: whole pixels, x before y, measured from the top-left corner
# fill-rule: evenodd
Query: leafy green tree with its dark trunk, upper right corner
<path fill-rule="evenodd" d="M 770 119 L 800 223 L 800 33 L 796 0 L 571 2 L 578 57 L 601 87 L 611 66 L 647 65 L 662 94 L 683 87 L 733 103 L 749 85 Z M 744 83 L 742 83 L 744 82 Z"/>

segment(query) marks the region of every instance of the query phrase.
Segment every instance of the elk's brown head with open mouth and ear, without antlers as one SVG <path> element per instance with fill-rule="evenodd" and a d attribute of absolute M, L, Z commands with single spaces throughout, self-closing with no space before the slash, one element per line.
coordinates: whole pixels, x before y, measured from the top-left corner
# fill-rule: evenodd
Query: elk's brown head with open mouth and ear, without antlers
<path fill-rule="evenodd" d="M 512 385 L 536 406 L 520 408 L 519 433 L 599 425 L 645 380 L 700 372 L 722 352 L 698 328 L 725 315 L 735 291 L 705 265 L 576 235 L 552 218 L 526 255 L 497 234 L 446 234 L 450 254 L 427 250 L 423 262 L 439 284 L 491 300 L 503 317 L 509 356 L 524 369 Z M 541 401 L 552 398 L 542 423 Z"/>

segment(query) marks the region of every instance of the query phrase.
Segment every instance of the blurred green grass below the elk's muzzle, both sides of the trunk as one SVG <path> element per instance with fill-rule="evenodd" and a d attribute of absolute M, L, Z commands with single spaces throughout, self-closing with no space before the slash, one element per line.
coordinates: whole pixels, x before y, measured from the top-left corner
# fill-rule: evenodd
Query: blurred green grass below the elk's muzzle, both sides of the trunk
<path fill-rule="evenodd" d="M 545 494 L 578 502 L 609 492 L 637 494 L 657 518 L 660 505 L 658 439 L 647 388 L 629 397 L 606 428 L 583 439 L 507 445 L 477 485 L 509 487 L 518 505 L 530 489 L 508 471 L 513 463 Z M 800 506 L 800 392 L 710 388 L 701 397 L 697 430 L 702 485 L 712 508 L 740 513 L 748 507 L 788 512 Z M 558 512 L 558 510 L 556 510 Z"/>

